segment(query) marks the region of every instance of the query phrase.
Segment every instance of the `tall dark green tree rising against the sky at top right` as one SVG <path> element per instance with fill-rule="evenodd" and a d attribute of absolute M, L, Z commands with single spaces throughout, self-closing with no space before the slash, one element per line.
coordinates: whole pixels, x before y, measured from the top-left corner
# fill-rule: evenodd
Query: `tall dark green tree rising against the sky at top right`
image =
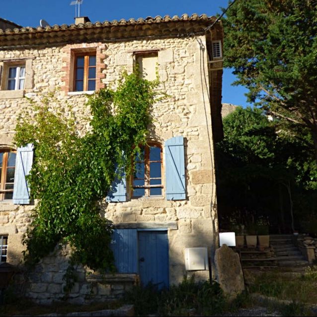
<path fill-rule="evenodd" d="M 223 21 L 224 65 L 236 84 L 283 119 L 317 161 L 317 1 L 236 0 Z"/>

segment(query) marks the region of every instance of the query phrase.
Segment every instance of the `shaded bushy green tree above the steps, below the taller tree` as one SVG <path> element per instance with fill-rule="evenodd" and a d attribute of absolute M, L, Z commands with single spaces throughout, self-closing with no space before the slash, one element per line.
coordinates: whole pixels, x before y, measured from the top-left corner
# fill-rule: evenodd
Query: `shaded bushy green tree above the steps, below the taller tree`
<path fill-rule="evenodd" d="M 217 198 L 222 228 L 269 223 L 289 232 L 316 214 L 317 169 L 308 145 L 257 108 L 238 107 L 223 120 L 217 146 Z M 294 227 L 294 226 L 293 226 Z"/>

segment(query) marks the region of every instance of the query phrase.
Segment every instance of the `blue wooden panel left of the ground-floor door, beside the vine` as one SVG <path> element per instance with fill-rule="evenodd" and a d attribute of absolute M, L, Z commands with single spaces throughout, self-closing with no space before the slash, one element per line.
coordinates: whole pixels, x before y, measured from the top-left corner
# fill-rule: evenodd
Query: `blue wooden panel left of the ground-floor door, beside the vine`
<path fill-rule="evenodd" d="M 136 229 L 115 229 L 111 249 L 118 273 L 138 272 L 138 233 Z"/>

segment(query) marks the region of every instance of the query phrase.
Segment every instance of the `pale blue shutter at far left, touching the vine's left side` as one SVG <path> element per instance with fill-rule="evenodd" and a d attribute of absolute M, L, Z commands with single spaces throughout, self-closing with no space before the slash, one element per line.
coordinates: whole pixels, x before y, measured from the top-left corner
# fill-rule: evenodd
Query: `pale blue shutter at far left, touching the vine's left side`
<path fill-rule="evenodd" d="M 25 205 L 30 203 L 29 187 L 25 176 L 29 174 L 33 162 L 33 145 L 17 149 L 13 186 L 13 204 Z"/>

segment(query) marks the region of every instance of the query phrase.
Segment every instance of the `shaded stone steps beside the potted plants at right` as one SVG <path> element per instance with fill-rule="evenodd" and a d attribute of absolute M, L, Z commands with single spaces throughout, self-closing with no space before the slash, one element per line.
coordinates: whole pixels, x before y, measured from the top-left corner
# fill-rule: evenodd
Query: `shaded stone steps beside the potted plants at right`
<path fill-rule="evenodd" d="M 309 265 L 302 252 L 292 242 L 292 235 L 270 235 L 270 245 L 279 267 L 303 267 Z"/>

